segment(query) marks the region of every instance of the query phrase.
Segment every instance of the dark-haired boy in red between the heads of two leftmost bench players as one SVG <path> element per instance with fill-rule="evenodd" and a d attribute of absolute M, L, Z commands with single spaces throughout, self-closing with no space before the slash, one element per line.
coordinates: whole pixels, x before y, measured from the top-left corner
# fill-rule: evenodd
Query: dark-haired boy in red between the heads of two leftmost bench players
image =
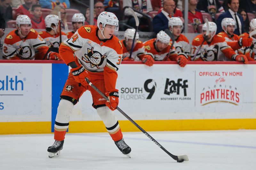
<path fill-rule="evenodd" d="M 33 5 L 31 8 L 31 14 L 32 14 L 32 17 L 30 19 L 31 19 L 32 28 L 45 29 L 45 23 L 44 23 L 44 18 L 42 16 L 41 5 L 39 4 Z"/>

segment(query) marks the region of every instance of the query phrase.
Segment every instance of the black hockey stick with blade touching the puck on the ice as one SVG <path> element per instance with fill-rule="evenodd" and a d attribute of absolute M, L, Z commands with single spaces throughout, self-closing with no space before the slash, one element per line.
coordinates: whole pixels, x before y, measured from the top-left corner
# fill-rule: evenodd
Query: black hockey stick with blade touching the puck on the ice
<path fill-rule="evenodd" d="M 86 82 L 94 89 L 96 92 L 98 92 L 104 99 L 108 100 L 108 97 L 105 96 L 97 87 L 95 87 L 91 81 L 88 78 L 85 78 Z M 183 162 L 183 161 L 188 161 L 188 156 L 187 155 L 181 155 L 181 156 L 176 156 L 168 152 L 161 144 L 159 144 L 153 137 L 151 137 L 144 129 L 142 129 L 136 122 L 132 120 L 128 115 L 124 113 L 123 110 L 121 110 L 119 107 L 116 107 L 116 109 L 124 115 L 132 124 L 134 124 L 138 129 L 140 129 L 149 139 L 151 139 L 157 146 L 159 146 L 164 152 L 166 152 L 170 157 L 172 157 L 174 160 L 177 162 Z"/>

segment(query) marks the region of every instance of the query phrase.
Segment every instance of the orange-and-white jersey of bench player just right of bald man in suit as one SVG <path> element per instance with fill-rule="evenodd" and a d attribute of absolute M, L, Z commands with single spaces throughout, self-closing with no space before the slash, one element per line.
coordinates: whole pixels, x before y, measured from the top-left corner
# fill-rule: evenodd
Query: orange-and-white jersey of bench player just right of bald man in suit
<path fill-rule="evenodd" d="M 172 40 L 171 40 L 172 41 Z M 174 41 L 173 46 L 176 49 L 176 52 L 179 53 L 185 53 L 187 56 L 190 56 L 190 46 L 188 38 L 180 34 L 180 36 Z"/>

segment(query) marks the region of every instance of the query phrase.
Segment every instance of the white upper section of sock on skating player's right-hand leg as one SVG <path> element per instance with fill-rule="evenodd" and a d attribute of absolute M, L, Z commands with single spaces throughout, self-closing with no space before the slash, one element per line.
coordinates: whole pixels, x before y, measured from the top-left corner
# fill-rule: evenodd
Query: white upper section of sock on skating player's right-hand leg
<path fill-rule="evenodd" d="M 114 112 L 110 110 L 107 106 L 98 107 L 96 110 L 107 129 L 113 126 L 117 126 L 118 124 L 117 118 Z"/>

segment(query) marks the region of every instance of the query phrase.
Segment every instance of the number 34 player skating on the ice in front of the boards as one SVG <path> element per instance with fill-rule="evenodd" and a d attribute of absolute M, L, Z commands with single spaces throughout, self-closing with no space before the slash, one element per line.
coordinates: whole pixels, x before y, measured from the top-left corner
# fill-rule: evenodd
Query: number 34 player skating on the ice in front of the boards
<path fill-rule="evenodd" d="M 54 125 L 55 142 L 47 150 L 50 158 L 59 155 L 63 148 L 72 109 L 83 92 L 90 90 L 85 78 L 90 79 L 92 84 L 108 96 L 109 100 L 106 101 L 92 89 L 92 106 L 97 110 L 118 149 L 128 156 L 131 152 L 131 148 L 124 142 L 113 112 L 119 103 L 116 79 L 123 53 L 121 42 L 113 35 L 118 31 L 118 22 L 115 14 L 101 12 L 97 26 L 80 27 L 70 39 L 61 43 L 60 57 L 72 69 L 60 95 L 61 100 Z"/>

